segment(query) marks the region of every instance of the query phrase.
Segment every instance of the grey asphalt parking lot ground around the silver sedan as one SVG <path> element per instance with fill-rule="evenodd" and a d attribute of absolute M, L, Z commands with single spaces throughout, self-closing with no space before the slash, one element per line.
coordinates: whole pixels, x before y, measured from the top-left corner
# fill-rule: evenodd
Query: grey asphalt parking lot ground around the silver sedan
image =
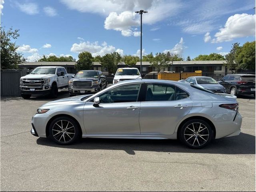
<path fill-rule="evenodd" d="M 255 191 L 252 96 L 238 98 L 240 136 L 202 150 L 177 140 L 82 139 L 60 146 L 30 134 L 36 109 L 49 101 L 1 98 L 2 191 Z"/>

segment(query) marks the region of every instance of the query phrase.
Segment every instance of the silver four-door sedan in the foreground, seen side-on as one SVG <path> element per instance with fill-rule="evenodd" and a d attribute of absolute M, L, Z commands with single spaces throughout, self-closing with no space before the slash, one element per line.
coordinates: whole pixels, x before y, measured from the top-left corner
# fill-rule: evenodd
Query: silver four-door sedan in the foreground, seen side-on
<path fill-rule="evenodd" d="M 31 133 L 58 144 L 78 138 L 179 139 L 202 148 L 240 134 L 235 96 L 167 80 L 128 80 L 87 96 L 44 104 Z"/>

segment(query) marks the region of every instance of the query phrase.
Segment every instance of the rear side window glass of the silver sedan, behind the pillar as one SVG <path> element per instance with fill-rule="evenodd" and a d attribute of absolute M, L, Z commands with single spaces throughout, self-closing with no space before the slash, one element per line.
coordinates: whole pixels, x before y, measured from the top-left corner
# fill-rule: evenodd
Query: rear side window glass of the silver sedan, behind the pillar
<path fill-rule="evenodd" d="M 145 101 L 174 101 L 187 97 L 187 92 L 174 85 L 147 84 Z"/>

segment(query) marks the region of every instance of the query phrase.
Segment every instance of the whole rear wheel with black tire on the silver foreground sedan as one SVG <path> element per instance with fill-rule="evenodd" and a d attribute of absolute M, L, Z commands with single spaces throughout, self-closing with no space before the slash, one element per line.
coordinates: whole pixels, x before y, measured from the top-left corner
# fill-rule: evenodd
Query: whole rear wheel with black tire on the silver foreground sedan
<path fill-rule="evenodd" d="M 213 131 L 211 126 L 200 119 L 189 120 L 182 126 L 179 132 L 180 141 L 192 149 L 205 147 L 211 142 L 212 138 Z"/>

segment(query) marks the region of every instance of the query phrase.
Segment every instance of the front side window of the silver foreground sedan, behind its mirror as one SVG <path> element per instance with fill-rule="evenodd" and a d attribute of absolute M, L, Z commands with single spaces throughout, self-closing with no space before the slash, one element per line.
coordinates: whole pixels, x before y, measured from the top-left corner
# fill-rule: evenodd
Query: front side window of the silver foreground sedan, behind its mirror
<path fill-rule="evenodd" d="M 99 96 L 100 103 L 137 102 L 141 84 L 123 85 Z"/>

